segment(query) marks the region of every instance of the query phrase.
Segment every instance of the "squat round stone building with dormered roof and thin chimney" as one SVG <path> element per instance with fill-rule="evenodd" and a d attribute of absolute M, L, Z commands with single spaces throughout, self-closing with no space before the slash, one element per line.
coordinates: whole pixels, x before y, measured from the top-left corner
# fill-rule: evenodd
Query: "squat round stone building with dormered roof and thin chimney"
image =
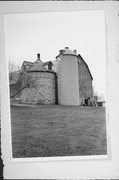
<path fill-rule="evenodd" d="M 24 61 L 17 72 L 19 78 L 10 83 L 11 102 L 56 104 L 56 73 L 52 62 L 43 63 L 40 54 L 35 62 Z M 19 86 L 18 86 L 19 85 Z"/>

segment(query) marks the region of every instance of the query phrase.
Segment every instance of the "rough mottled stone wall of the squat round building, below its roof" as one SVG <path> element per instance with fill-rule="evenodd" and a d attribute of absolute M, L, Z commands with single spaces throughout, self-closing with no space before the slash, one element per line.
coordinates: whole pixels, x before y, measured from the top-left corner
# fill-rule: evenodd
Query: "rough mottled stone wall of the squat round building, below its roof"
<path fill-rule="evenodd" d="M 29 86 L 22 90 L 21 102 L 28 104 L 55 104 L 56 75 L 51 72 L 29 72 L 28 75 Z M 25 86 L 24 83 L 23 86 Z"/>

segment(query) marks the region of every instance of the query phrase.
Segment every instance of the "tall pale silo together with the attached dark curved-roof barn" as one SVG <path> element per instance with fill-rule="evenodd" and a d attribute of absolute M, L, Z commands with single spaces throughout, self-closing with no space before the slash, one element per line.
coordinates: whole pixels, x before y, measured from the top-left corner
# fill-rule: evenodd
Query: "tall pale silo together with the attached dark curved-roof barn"
<path fill-rule="evenodd" d="M 88 105 L 93 96 L 93 77 L 88 65 L 77 55 L 76 50 L 68 47 L 56 56 L 58 76 L 58 102 L 61 105 Z"/>

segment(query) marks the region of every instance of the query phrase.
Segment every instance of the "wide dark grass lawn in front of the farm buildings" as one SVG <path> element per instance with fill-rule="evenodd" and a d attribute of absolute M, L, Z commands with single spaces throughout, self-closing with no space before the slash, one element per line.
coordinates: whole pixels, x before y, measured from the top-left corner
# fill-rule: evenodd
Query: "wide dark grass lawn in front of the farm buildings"
<path fill-rule="evenodd" d="M 105 155 L 104 107 L 11 106 L 13 157 Z"/>

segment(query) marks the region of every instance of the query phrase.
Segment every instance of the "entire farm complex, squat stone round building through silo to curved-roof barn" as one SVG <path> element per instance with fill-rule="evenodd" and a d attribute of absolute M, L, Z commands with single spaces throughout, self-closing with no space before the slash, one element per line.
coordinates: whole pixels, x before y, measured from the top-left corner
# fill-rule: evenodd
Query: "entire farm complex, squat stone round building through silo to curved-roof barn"
<path fill-rule="evenodd" d="M 55 62 L 43 63 L 37 54 L 36 61 L 24 61 L 19 72 L 21 87 L 17 78 L 10 84 L 10 95 L 21 99 L 21 103 L 89 105 L 93 97 L 89 67 L 76 50 L 68 47 L 59 51 Z"/>

